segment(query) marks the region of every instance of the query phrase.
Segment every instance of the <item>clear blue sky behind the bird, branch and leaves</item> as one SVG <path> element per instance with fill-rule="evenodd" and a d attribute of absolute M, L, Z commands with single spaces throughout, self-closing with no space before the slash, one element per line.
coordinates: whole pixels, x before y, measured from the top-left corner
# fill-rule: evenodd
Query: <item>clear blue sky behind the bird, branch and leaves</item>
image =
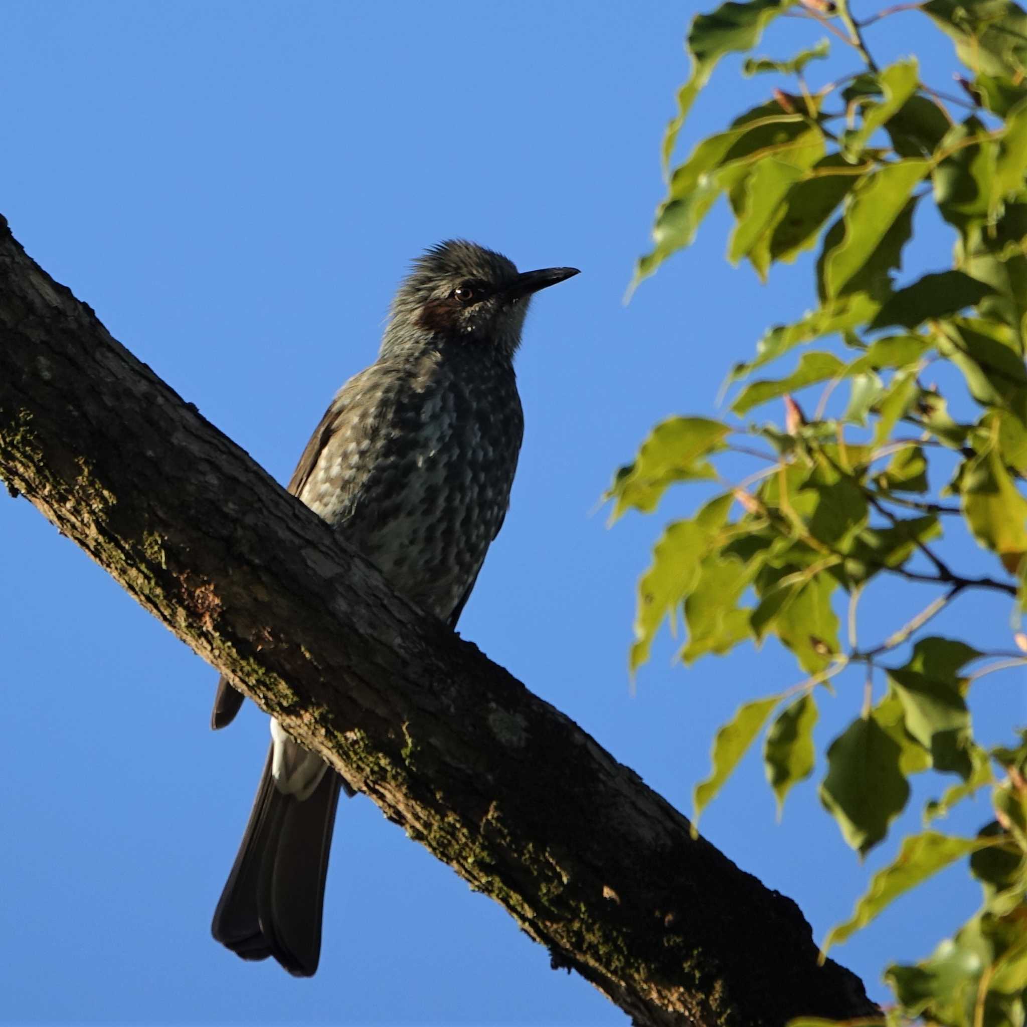
<path fill-rule="evenodd" d="M 465 236 L 522 268 L 581 268 L 529 318 L 512 506 L 460 627 L 685 811 L 716 726 L 797 672 L 772 645 L 684 669 L 664 638 L 633 695 L 635 582 L 665 518 L 608 530 L 597 500 L 653 423 L 711 412 L 729 365 L 812 302 L 808 261 L 768 287 L 729 268 L 719 212 L 621 303 L 660 197 L 660 136 L 696 9 L 23 2 L 5 6 L 0 40 L 0 212 L 115 337 L 280 481 L 336 388 L 374 358 L 419 251 Z M 885 61 L 919 49 L 917 30 L 934 36 L 916 15 L 891 25 L 871 37 Z M 784 55 L 820 35 L 786 22 L 763 49 Z M 948 45 L 931 40 L 926 56 L 944 88 Z M 845 54 L 830 68 L 854 65 Z M 771 85 L 726 62 L 683 146 Z M 950 239 L 925 231 L 908 267 L 937 270 Z M 690 508 L 674 497 L 667 517 Z M 624 1022 L 360 797 L 339 812 L 318 976 L 296 981 L 216 945 L 210 918 L 265 718 L 248 706 L 213 734 L 215 672 L 24 500 L 0 497 L 0 1017 Z M 960 560 L 985 558 L 965 548 Z M 877 634 L 914 604 L 922 593 L 878 592 L 861 626 Z M 1000 605 L 980 602 L 948 622 L 1006 646 L 1004 623 Z M 1023 719 L 1022 686 L 1017 675 L 982 683 L 988 740 Z M 825 697 L 821 749 L 859 688 Z M 918 788 L 907 826 L 937 791 Z M 979 804 L 947 826 L 986 819 Z M 793 897 L 817 938 L 893 851 L 861 867 L 812 782 L 777 826 L 757 759 L 702 829 Z M 952 872 L 835 955 L 881 996 L 886 962 L 925 955 L 976 904 Z"/>

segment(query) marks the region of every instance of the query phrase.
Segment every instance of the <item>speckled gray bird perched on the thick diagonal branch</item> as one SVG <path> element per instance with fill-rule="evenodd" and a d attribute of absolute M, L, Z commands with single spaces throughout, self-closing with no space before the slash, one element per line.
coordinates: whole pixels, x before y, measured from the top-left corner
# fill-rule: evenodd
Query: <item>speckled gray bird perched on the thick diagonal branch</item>
<path fill-rule="evenodd" d="M 377 359 L 336 394 L 289 483 L 398 594 L 452 629 L 509 505 L 524 433 L 514 356 L 529 302 L 577 273 L 519 272 L 463 239 L 424 252 L 395 294 Z M 223 676 L 212 727 L 230 723 L 242 699 Z M 212 923 L 241 958 L 316 972 L 340 790 L 353 794 L 272 719 Z"/>

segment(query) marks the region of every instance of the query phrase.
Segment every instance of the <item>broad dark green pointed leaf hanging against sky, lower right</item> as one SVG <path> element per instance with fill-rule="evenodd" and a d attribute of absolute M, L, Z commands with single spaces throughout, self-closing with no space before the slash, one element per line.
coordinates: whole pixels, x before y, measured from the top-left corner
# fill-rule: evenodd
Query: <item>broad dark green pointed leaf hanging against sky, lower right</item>
<path fill-rule="evenodd" d="M 828 749 L 821 801 L 845 841 L 862 855 L 884 837 L 909 798 L 901 755 L 873 714 L 854 720 Z"/>

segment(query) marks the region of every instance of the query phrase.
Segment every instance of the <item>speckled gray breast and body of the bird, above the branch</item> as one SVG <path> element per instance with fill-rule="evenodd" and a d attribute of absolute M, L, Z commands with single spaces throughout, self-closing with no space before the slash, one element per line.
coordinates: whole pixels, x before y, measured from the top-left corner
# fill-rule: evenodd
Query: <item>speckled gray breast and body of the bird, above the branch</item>
<path fill-rule="evenodd" d="M 396 592 L 451 620 L 502 524 L 523 432 L 508 359 L 425 347 L 343 386 L 290 488 Z"/>

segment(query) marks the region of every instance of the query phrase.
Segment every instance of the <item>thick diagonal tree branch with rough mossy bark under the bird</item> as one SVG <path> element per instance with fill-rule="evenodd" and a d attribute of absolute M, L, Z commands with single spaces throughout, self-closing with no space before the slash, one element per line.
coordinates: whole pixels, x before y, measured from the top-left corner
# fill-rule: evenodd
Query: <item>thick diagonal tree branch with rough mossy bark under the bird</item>
<path fill-rule="evenodd" d="M 0 477 L 637 1023 L 878 1012 L 851 973 L 817 965 L 795 903 L 693 840 L 567 717 L 391 594 L 2 217 Z"/>

